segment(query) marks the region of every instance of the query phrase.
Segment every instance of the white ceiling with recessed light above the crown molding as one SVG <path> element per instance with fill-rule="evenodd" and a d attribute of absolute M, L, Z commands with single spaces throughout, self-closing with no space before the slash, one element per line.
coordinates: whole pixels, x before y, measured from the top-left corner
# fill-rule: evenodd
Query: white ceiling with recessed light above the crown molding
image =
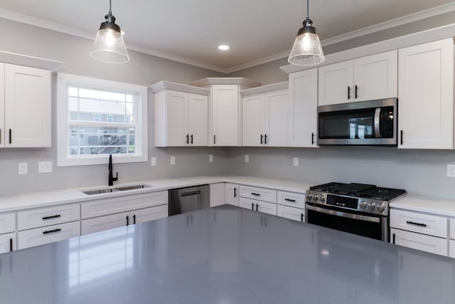
<path fill-rule="evenodd" d="M 432 9 L 431 14 L 437 14 L 454 9 L 454 4 L 447 0 L 311 0 L 310 17 L 321 40 L 326 40 L 419 11 Z M 0 10 L 6 18 L 95 38 L 109 1 L 1 0 Z M 306 16 L 306 1 L 112 0 L 112 14 L 126 33 L 128 48 L 229 71 L 264 58 L 284 57 Z M 218 51 L 222 43 L 230 45 L 230 51 Z"/>

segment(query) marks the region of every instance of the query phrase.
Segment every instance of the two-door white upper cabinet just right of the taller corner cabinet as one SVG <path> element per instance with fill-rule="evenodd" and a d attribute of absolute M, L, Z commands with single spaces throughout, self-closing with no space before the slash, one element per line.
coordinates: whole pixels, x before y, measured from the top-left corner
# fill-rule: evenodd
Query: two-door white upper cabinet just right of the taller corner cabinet
<path fill-rule="evenodd" d="M 284 82 L 242 90 L 244 146 L 288 145 L 289 91 L 287 86 L 288 83 Z"/>

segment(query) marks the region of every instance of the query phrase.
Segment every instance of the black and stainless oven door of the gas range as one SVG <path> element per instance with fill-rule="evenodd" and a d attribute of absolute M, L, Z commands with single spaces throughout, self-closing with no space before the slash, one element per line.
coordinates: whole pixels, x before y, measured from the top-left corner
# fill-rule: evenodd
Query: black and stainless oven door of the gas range
<path fill-rule="evenodd" d="M 306 203 L 306 222 L 370 239 L 388 241 L 387 216 L 365 215 L 356 211 Z"/>

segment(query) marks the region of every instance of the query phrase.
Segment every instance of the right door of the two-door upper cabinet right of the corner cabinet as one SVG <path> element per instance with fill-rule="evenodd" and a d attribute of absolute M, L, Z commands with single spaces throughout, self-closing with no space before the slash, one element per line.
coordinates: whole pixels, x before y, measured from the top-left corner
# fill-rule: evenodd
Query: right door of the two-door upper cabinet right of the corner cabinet
<path fill-rule="evenodd" d="M 244 125 L 245 127 L 245 125 Z M 286 147 L 289 131 L 289 90 L 265 93 L 265 145 Z M 245 140 L 244 140 L 245 144 Z"/>

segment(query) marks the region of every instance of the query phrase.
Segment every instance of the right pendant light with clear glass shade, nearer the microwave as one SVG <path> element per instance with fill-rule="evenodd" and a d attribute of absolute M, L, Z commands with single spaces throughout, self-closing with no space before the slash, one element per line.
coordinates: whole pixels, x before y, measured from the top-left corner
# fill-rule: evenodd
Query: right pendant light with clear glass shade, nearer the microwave
<path fill-rule="evenodd" d="M 316 28 L 309 17 L 309 0 L 306 0 L 306 19 L 299 29 L 287 61 L 294 65 L 315 65 L 325 60 Z"/>

